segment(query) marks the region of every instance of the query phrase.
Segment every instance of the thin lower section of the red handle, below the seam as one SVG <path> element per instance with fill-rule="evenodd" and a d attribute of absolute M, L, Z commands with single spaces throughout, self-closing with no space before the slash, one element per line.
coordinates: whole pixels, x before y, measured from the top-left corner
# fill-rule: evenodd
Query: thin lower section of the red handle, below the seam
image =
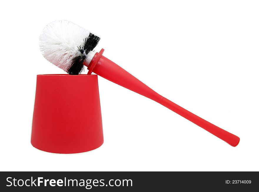
<path fill-rule="evenodd" d="M 223 141 L 227 142 L 233 147 L 237 146 L 240 141 L 238 136 L 235 136 L 234 134 L 227 132 L 224 129 L 221 129 L 216 125 L 213 125 L 212 123 L 207 122 L 206 120 L 198 117 L 197 115 L 191 113 L 190 111 L 187 111 L 186 109 L 180 107 L 179 105 L 175 104 L 174 102 L 168 100 L 165 97 L 163 97 L 160 104 L 176 112 L 177 114 L 181 115 L 185 119 L 188 119 L 194 124 L 200 126 L 201 128 L 205 129 L 206 131 L 210 132 L 216 137 L 222 139 Z"/>

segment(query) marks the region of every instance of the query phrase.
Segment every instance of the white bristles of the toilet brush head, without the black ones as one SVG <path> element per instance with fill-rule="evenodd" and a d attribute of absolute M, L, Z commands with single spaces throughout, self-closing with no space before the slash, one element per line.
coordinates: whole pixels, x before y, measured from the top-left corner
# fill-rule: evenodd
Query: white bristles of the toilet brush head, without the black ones
<path fill-rule="evenodd" d="M 67 71 L 71 61 L 78 56 L 78 46 L 83 45 L 89 31 L 66 20 L 49 23 L 39 37 L 42 55 L 51 63 Z"/>

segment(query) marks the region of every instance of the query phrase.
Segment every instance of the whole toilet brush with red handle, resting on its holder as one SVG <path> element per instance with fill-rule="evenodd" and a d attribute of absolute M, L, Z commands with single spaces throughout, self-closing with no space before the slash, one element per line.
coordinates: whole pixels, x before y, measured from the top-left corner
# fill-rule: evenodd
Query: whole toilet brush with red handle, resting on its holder
<path fill-rule="evenodd" d="M 92 72 L 122 87 L 150 98 L 182 117 L 195 123 L 231 146 L 237 146 L 239 137 L 185 110 L 159 95 L 119 65 L 102 56 L 104 49 L 94 53 L 99 37 L 69 21 L 54 21 L 47 25 L 40 36 L 40 49 L 44 57 L 70 75 L 78 75 L 84 65 L 88 75 Z"/>

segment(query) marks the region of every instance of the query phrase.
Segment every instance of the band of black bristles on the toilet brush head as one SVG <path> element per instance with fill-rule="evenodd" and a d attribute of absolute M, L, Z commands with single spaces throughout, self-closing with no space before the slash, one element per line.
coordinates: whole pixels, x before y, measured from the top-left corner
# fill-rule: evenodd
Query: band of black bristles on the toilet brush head
<path fill-rule="evenodd" d="M 69 75 L 78 75 L 81 74 L 81 72 L 84 69 L 84 60 L 87 58 L 87 54 L 92 51 L 100 41 L 100 38 L 98 36 L 95 36 L 94 34 L 90 33 L 87 38 L 84 39 L 84 44 L 78 46 L 78 51 L 82 54 L 81 56 L 77 56 L 72 59 L 71 65 L 69 66 L 67 73 Z M 86 55 L 84 55 L 86 54 Z"/>

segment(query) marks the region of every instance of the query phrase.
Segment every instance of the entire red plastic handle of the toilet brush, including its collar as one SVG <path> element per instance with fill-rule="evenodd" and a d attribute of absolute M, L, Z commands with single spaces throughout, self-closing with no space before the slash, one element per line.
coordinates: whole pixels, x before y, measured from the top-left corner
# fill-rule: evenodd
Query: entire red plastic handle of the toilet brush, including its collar
<path fill-rule="evenodd" d="M 182 117 L 188 119 L 189 121 L 195 123 L 196 125 L 202 127 L 206 131 L 212 133 L 223 141 L 227 142 L 232 146 L 237 146 L 239 143 L 239 137 L 213 125 L 210 122 L 205 121 L 204 119 L 198 117 L 197 115 L 187 111 L 186 109 L 176 105 L 172 101 L 162 97 L 157 92 L 152 90 L 150 87 L 145 85 L 143 82 L 135 78 L 133 75 L 128 73 L 126 70 L 121 68 L 116 63 L 102 56 L 104 49 L 100 53 L 96 53 L 89 63 L 88 69 L 89 74 L 94 72 L 97 75 L 112 81 L 122 87 L 125 87 L 129 90 L 132 90 L 140 95 L 143 95 L 147 98 L 150 98 L 161 105 L 167 107 L 168 109 L 176 112 Z"/>

